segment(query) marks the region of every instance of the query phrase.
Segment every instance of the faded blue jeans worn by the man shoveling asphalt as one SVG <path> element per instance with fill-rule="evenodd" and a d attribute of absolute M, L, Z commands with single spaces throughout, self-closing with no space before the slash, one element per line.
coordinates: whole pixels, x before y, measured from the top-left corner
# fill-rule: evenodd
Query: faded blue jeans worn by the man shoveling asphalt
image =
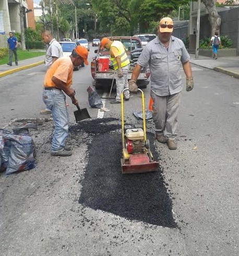
<path fill-rule="evenodd" d="M 66 96 L 62 90 L 43 90 L 43 101 L 47 108 L 52 111 L 55 131 L 52 138 L 51 152 L 64 149 L 68 135 L 69 115 L 66 108 Z"/>

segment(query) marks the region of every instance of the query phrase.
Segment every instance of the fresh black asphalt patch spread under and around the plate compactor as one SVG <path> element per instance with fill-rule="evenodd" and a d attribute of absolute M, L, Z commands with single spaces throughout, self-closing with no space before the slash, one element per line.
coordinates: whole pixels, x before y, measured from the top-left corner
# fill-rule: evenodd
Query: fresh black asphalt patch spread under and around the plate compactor
<path fill-rule="evenodd" d="M 83 121 L 70 127 L 72 139 L 76 140 L 77 134 L 80 137 L 82 131 L 92 137 L 79 203 L 127 219 L 176 227 L 161 168 L 158 172 L 122 174 L 120 129 L 121 123 L 113 118 Z M 147 138 L 154 158 L 158 159 L 154 135 L 147 133 Z"/>

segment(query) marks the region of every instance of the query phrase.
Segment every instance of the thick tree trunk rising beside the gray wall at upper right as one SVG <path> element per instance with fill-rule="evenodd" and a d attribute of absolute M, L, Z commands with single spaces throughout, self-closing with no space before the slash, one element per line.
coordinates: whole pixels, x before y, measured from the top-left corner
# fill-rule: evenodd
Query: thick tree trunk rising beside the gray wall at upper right
<path fill-rule="evenodd" d="M 211 35 L 213 36 L 216 31 L 220 34 L 221 18 L 218 14 L 214 0 L 201 0 L 201 2 L 205 4 L 209 13 L 208 19 L 211 25 Z"/>

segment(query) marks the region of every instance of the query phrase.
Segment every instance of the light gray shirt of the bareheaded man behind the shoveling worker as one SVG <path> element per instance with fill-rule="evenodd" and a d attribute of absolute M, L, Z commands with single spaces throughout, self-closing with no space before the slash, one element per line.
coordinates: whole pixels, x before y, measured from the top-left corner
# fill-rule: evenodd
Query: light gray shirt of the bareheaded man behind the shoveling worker
<path fill-rule="evenodd" d="M 45 67 L 49 68 L 52 65 L 52 57 L 60 58 L 63 56 L 62 45 L 55 38 L 49 43 L 45 55 Z"/>

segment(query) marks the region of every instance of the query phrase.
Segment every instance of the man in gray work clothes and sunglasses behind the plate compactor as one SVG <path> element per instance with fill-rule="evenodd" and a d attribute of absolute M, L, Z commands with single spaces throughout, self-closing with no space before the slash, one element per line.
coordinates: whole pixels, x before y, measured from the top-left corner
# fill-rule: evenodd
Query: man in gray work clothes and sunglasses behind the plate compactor
<path fill-rule="evenodd" d="M 158 26 L 158 37 L 150 41 L 139 56 L 129 91 L 137 92 L 136 80 L 141 67 L 149 64 L 151 80 L 152 117 L 156 138 L 168 143 L 169 149 L 176 149 L 177 113 L 181 104 L 183 88 L 180 64 L 186 75 L 186 90 L 194 88 L 189 54 L 182 40 L 173 37 L 173 20 L 162 18 Z"/>

